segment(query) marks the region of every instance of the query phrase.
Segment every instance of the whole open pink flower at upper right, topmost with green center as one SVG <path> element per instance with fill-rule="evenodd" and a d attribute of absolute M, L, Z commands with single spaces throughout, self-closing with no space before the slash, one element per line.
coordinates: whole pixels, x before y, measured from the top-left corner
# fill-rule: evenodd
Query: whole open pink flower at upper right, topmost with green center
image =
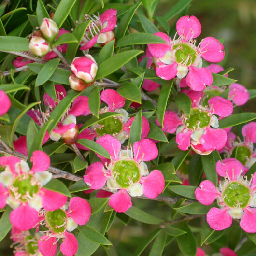
<path fill-rule="evenodd" d="M 210 62 L 223 60 L 225 52 L 223 45 L 214 37 L 204 38 L 195 46 L 195 38 L 201 33 L 201 24 L 195 16 L 183 16 L 176 24 L 179 37 L 174 39 L 162 32 L 155 35 L 165 40 L 166 44 L 148 44 L 156 64 L 156 75 L 165 80 L 177 76 L 183 78 L 194 91 L 202 91 L 205 85 L 213 83 L 211 72 L 202 68 L 202 58 Z"/>

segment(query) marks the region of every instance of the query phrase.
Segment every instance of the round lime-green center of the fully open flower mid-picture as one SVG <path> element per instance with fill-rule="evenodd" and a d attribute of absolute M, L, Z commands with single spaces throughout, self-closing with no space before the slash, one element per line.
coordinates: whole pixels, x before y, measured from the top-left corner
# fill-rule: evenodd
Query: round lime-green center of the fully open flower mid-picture
<path fill-rule="evenodd" d="M 140 170 L 134 160 L 119 160 L 112 169 L 112 175 L 121 188 L 128 188 L 131 181 L 136 183 L 140 180 Z"/>

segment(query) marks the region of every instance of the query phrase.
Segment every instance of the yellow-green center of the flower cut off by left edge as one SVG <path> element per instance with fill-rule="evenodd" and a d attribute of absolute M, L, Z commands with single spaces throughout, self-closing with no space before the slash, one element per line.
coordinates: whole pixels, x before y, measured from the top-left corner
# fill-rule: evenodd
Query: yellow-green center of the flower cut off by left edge
<path fill-rule="evenodd" d="M 25 176 L 26 175 L 26 176 Z M 30 197 L 33 197 L 34 194 L 37 194 L 39 192 L 39 185 L 35 184 L 34 177 L 32 175 L 23 174 L 18 176 L 14 182 L 12 187 L 14 187 L 14 190 L 17 190 L 16 193 L 20 194 L 20 201 L 27 202 L 30 199 L 26 196 L 29 194 Z M 26 179 L 25 177 L 28 178 Z M 10 189 L 10 194 L 15 197 L 14 191 Z M 15 193 L 15 194 L 16 194 Z"/>

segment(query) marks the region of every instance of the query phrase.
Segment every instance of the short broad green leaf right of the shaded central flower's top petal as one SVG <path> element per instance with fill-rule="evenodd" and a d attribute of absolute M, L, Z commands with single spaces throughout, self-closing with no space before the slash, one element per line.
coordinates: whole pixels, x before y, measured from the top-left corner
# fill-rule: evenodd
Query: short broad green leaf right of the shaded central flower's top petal
<path fill-rule="evenodd" d="M 132 82 L 122 83 L 117 89 L 117 92 L 127 100 L 142 103 L 141 91 Z"/>

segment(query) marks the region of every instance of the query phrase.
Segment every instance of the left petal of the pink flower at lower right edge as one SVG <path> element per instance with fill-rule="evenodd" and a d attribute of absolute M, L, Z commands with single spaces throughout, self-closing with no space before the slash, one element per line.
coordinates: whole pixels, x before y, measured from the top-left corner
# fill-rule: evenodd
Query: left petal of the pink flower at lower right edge
<path fill-rule="evenodd" d="M 211 181 L 202 181 L 195 192 L 196 199 L 204 205 L 210 205 L 218 197 L 218 190 Z"/>

